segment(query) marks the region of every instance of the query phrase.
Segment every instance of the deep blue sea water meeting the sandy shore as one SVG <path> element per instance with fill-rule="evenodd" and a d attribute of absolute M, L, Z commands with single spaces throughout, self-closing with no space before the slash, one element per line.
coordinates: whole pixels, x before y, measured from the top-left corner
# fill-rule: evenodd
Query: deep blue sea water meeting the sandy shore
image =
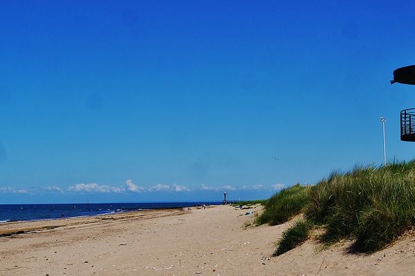
<path fill-rule="evenodd" d="M 165 203 L 111 203 L 111 204 L 0 204 L 0 223 L 37 219 L 60 219 L 149 210 L 158 208 L 185 208 L 219 205 L 221 202 L 165 202 Z"/>

